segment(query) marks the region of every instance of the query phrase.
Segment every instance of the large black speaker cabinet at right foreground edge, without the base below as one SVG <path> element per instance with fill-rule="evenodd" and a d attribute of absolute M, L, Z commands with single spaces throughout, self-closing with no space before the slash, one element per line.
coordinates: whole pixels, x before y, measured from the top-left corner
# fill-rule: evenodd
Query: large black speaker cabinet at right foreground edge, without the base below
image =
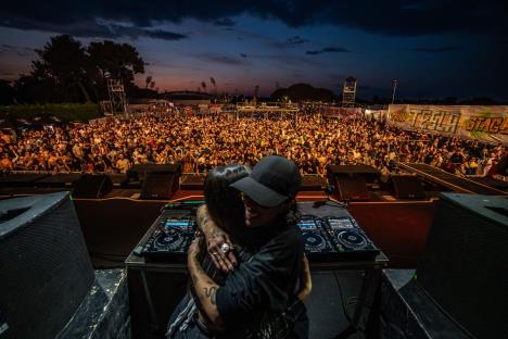
<path fill-rule="evenodd" d="M 442 193 L 417 282 L 473 337 L 508 334 L 508 200 Z"/>

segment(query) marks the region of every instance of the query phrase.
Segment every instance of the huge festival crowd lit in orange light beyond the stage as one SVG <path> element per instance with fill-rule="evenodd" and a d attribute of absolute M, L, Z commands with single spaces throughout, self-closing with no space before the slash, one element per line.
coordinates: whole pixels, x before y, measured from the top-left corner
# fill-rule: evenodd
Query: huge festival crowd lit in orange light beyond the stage
<path fill-rule="evenodd" d="M 241 118 L 147 113 L 131 120 L 26 129 L 0 140 L 3 171 L 125 173 L 139 163 L 180 162 L 185 173 L 229 163 L 253 166 L 266 155 L 292 160 L 302 174 L 328 164 L 366 164 L 382 174 L 397 162 L 424 162 L 459 175 L 490 175 L 505 154 L 486 145 L 405 131 L 365 117 Z"/>

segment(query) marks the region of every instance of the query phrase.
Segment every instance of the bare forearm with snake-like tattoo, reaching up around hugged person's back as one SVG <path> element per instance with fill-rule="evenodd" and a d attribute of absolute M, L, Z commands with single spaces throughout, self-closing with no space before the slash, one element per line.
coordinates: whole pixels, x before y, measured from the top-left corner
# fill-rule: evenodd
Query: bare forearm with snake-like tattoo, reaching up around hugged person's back
<path fill-rule="evenodd" d="M 194 240 L 189 247 L 187 255 L 187 267 L 189 275 L 194 285 L 194 290 L 200 303 L 202 311 L 206 313 L 208 319 L 213 325 L 221 326 L 223 321 L 217 310 L 215 302 L 215 294 L 219 286 L 212 280 L 211 277 L 203 271 L 199 262 L 200 247 L 199 241 Z"/>

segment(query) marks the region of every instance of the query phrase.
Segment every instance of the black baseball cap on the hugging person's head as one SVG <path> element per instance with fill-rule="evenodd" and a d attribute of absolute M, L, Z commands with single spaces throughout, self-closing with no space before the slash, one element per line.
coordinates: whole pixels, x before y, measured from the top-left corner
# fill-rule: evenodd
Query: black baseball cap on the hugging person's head
<path fill-rule="evenodd" d="M 230 187 L 243 192 L 261 206 L 275 208 L 295 197 L 301 183 L 302 176 L 292 161 L 279 155 L 268 155 L 252 168 L 247 177 Z"/>

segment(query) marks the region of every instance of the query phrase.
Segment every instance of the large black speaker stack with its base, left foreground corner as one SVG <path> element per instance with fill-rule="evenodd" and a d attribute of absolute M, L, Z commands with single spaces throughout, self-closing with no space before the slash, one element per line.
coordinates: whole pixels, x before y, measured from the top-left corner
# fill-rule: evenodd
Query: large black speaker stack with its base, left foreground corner
<path fill-rule="evenodd" d="M 124 269 L 94 272 L 68 192 L 0 201 L 0 338 L 128 339 Z"/>

